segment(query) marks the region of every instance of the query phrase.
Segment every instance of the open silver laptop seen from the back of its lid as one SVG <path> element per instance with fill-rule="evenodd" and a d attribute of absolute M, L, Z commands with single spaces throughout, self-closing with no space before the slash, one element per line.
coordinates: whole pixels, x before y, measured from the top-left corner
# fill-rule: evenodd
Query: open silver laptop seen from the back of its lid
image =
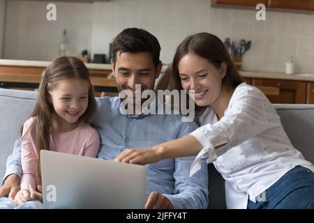
<path fill-rule="evenodd" d="M 146 168 L 40 151 L 44 208 L 142 209 Z"/>

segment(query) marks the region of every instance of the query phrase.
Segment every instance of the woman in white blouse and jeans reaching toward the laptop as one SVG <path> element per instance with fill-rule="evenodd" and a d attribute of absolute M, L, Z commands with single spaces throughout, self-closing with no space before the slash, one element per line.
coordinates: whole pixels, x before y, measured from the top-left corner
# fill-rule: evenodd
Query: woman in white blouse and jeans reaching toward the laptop
<path fill-rule="evenodd" d="M 200 128 L 149 149 L 129 149 L 117 161 L 146 164 L 197 155 L 225 178 L 227 208 L 314 208 L 314 167 L 283 130 L 271 102 L 242 82 L 223 43 L 209 33 L 188 36 L 177 48 L 173 74 L 195 98 Z M 190 90 L 194 90 L 190 91 Z"/>

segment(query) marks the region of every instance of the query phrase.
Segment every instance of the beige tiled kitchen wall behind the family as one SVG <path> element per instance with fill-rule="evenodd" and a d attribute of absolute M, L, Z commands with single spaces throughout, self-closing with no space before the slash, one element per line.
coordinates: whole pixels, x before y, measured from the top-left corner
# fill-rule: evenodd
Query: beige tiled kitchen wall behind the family
<path fill-rule="evenodd" d="M 222 40 L 230 37 L 236 43 L 241 38 L 252 41 L 243 58 L 244 70 L 283 72 L 285 61 L 295 56 L 296 72 L 314 73 L 313 13 L 267 10 L 267 20 L 257 21 L 254 9 L 213 8 L 210 0 L 58 2 L 60 19 L 51 23 L 42 19 L 46 3 L 8 3 L 6 58 L 52 59 L 63 28 L 68 29 L 73 53 L 79 54 L 87 47 L 92 54 L 107 54 L 110 41 L 119 31 L 136 26 L 160 40 L 164 63 L 172 61 L 177 45 L 186 36 L 207 31 Z"/>

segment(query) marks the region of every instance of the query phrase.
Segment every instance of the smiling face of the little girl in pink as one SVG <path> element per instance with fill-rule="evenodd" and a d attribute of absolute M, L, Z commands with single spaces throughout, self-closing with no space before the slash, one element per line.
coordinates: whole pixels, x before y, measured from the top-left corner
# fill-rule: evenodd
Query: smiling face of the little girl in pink
<path fill-rule="evenodd" d="M 83 79 L 61 80 L 49 93 L 61 125 L 76 123 L 89 104 L 89 82 Z"/>

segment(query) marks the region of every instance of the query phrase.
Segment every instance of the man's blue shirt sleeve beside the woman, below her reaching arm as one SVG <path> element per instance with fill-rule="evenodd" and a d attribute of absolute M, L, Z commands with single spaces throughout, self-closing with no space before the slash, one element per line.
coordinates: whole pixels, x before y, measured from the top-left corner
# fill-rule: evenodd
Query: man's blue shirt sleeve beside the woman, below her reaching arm
<path fill-rule="evenodd" d="M 197 128 L 196 123 L 184 123 L 179 137 L 189 134 Z M 208 172 L 206 160 L 202 160 L 202 169 L 189 177 L 190 166 L 195 157 L 175 159 L 173 194 L 163 194 L 176 209 L 207 208 L 208 206 Z"/>

